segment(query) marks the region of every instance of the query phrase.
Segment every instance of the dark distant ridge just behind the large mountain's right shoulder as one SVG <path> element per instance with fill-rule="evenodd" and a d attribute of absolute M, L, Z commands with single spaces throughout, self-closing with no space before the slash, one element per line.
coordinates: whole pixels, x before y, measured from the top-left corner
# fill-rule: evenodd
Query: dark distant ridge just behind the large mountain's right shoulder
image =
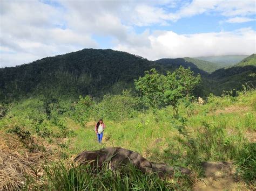
<path fill-rule="evenodd" d="M 199 69 L 195 63 L 191 61 L 187 61 L 186 58 L 176 58 L 176 59 L 164 58 L 164 59 L 156 60 L 154 62 L 164 66 L 164 68 L 168 70 L 175 70 L 179 68 L 179 66 L 183 66 L 184 68 L 189 67 L 196 74 L 201 74 L 203 76 L 208 75 L 208 73 L 205 70 Z"/>

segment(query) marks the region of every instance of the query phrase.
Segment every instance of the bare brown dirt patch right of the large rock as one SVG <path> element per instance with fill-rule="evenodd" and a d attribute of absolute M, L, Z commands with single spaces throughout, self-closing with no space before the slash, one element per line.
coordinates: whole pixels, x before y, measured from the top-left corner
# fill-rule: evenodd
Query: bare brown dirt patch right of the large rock
<path fill-rule="evenodd" d="M 247 190 L 244 185 L 235 182 L 233 168 L 228 162 L 204 162 L 205 178 L 194 185 L 193 190 Z"/>

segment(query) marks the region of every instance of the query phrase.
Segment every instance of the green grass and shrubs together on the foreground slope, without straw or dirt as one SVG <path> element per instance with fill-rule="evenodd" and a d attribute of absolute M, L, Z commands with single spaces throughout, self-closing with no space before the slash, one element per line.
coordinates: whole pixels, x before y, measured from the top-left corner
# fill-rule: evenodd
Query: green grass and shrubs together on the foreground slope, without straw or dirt
<path fill-rule="evenodd" d="M 246 183 L 244 188 L 253 189 L 256 178 L 256 92 L 245 88 L 235 97 L 232 94 L 210 95 L 204 105 L 196 100 L 190 102 L 190 107 L 186 102 L 179 102 L 177 118 L 173 117 L 171 105 L 145 110 L 140 106 L 142 103 L 127 91 L 122 95 L 107 95 L 102 101 L 95 102 L 90 97 L 80 97 L 75 103 L 53 100 L 50 104 L 42 98 L 30 98 L 8 105 L 6 115 L 0 121 L 0 131 L 4 136 L 19 137 L 26 149 L 21 150 L 21 154 L 40 151 L 41 154 L 55 155 L 53 161 L 56 162 L 48 161 L 40 176 L 28 176 L 25 184 L 17 184 L 19 188 L 191 189 L 196 180 L 204 176 L 201 162 L 227 161 L 233 164 L 232 176 L 241 185 Z M 110 101 L 115 103 L 112 107 Z M 87 103 L 92 103 L 89 104 L 92 112 L 87 117 L 82 116 L 85 120 L 80 123 L 76 121 L 76 112 L 80 109 L 89 111 Z M 104 145 L 98 145 L 93 132 L 94 119 L 102 114 L 106 114 L 107 129 Z M 85 122 L 89 122 L 86 127 Z M 42 140 L 43 144 L 35 140 Z M 105 146 L 121 146 L 150 161 L 186 167 L 193 175 L 176 173 L 171 179 L 161 179 L 156 174 L 143 174 L 132 167 L 125 172 L 105 168 L 92 172 L 88 166 L 75 166 L 70 161 L 83 150 Z M 62 162 L 57 162 L 59 160 Z"/>

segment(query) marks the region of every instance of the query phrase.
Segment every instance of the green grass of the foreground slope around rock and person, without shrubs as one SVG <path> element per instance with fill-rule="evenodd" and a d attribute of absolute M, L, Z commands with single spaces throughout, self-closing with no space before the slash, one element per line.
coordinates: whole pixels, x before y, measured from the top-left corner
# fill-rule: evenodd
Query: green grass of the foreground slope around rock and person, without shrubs
<path fill-rule="evenodd" d="M 178 119 L 173 118 L 171 107 L 154 113 L 150 110 L 140 112 L 136 118 L 123 122 L 104 119 L 106 129 L 103 145 L 97 143 L 94 132 L 96 122 L 80 126 L 71 118 L 63 116 L 65 128 L 61 129 L 48 120 L 43 112 L 38 111 L 39 116 L 44 119 L 39 125 L 52 132 L 44 139 L 49 144 L 57 145 L 62 153 L 60 158 L 65 164 L 48 164 L 45 167 L 44 178 L 49 183 L 44 185 L 45 189 L 186 190 L 192 188 L 196 179 L 203 177 L 201 162 L 204 161 L 232 162 L 237 178 L 250 185 L 255 181 L 255 97 L 254 90 L 238 97 L 210 96 L 207 104 L 198 105 L 194 102 L 189 109 L 180 104 Z M 41 135 L 37 134 L 33 120 L 37 115 L 34 110 L 41 107 L 42 103 L 36 99 L 14 104 L 8 115 L 0 121 L 0 130 L 5 131 L 18 125 L 34 136 Z M 107 169 L 91 174 L 87 167 L 70 164 L 72 157 L 79 152 L 108 146 L 136 151 L 152 162 L 189 168 L 196 179 L 177 174 L 172 179 L 161 180 L 154 174 L 145 175 L 136 169 L 131 169 L 126 174 L 115 174 Z M 96 181 L 97 179 L 100 181 Z"/>

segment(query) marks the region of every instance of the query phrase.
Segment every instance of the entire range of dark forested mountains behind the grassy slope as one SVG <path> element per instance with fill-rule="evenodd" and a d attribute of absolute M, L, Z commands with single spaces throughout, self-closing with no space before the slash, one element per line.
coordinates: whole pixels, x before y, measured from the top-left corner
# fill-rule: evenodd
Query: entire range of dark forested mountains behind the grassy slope
<path fill-rule="evenodd" d="M 145 70 L 156 68 L 166 73 L 179 66 L 190 67 L 195 74 L 201 74 L 203 81 L 197 96 L 220 95 L 222 90 L 239 89 L 247 82 L 256 86 L 255 77 L 248 76 L 256 73 L 255 66 L 215 70 L 214 63 L 193 58 L 149 61 L 112 49 L 83 49 L 0 68 L 0 101 L 37 95 L 75 99 L 79 95 L 120 94 L 123 89 L 134 89 L 134 79 L 143 76 Z"/>

